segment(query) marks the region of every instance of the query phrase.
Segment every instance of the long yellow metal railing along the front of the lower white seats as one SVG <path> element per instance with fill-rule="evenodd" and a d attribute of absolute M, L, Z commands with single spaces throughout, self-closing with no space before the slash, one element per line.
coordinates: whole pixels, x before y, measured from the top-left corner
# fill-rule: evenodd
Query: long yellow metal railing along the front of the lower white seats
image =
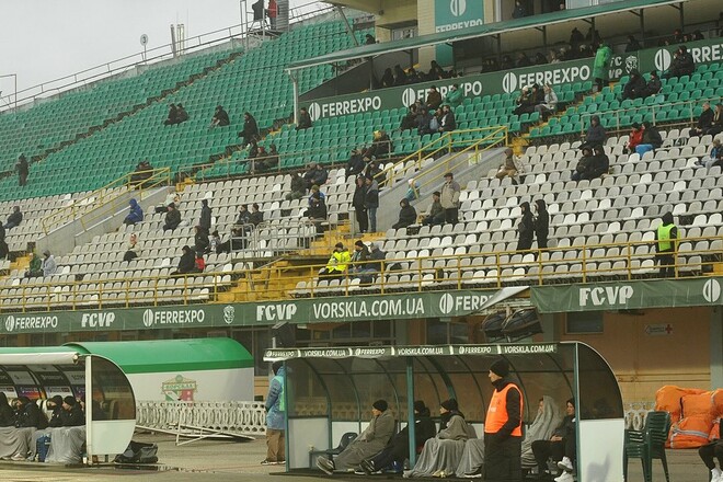
<path fill-rule="evenodd" d="M 700 241 L 708 242 L 698 249 Z M 268 264 L 257 268 L 227 269 L 184 275 L 126 277 L 104 274 L 105 279 L 59 283 L 21 283 L 0 291 L 0 312 L 77 310 L 89 308 L 214 302 L 234 284 L 237 300 L 283 300 L 289 297 L 349 296 L 360 292 L 381 295 L 401 291 L 435 291 L 462 288 L 498 288 L 507 285 L 550 285 L 596 283 L 658 277 L 654 241 L 611 244 L 581 244 L 530 251 L 500 251 L 422 255 L 400 251 L 380 261 L 380 269 L 367 263 L 349 263 L 337 278 L 319 276 L 323 264 Z M 696 246 L 693 249 L 693 246 Z M 455 248 L 450 245 L 452 250 Z M 617 248 L 617 253 L 612 248 Z M 598 250 L 602 254 L 597 253 Z M 307 251 L 307 256 L 311 252 Z M 322 256 L 317 256 L 322 257 Z M 325 255 L 323 256 L 325 257 Z M 723 263 L 723 236 L 681 238 L 674 253 L 670 278 L 698 276 L 720 268 Z M 564 272 L 556 269 L 565 265 Z M 366 272 L 359 272 L 367 268 Z M 380 276 L 383 274 L 385 276 Z M 91 275 L 92 276 L 92 275 Z M 338 284 L 333 282 L 338 280 Z M 303 283 L 303 286 L 300 286 Z M 83 286 L 85 285 L 85 286 Z M 206 289 L 203 296 L 195 289 Z M 15 292 L 13 292 L 13 289 Z"/>

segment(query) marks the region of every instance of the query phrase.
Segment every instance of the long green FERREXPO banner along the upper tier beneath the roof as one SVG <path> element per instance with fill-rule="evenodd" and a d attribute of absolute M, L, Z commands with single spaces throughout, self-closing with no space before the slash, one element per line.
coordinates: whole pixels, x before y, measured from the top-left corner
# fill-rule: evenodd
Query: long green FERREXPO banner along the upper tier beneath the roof
<path fill-rule="evenodd" d="M 447 3 L 447 2 L 441 2 Z M 469 2 L 468 2 L 469 4 Z M 723 60 L 723 43 L 720 38 L 687 44 L 697 65 Z M 610 61 L 610 80 L 619 80 L 632 70 L 664 71 L 670 66 L 677 46 L 649 48 L 638 53 L 613 55 Z M 301 103 L 313 120 L 391 108 L 409 107 L 417 99 L 426 99 L 431 85 L 436 85 L 444 97 L 452 84 L 459 84 L 464 97 L 494 95 L 519 91 L 533 83 L 562 85 L 593 81 L 593 59 L 571 60 L 560 64 L 526 67 L 512 71 L 498 71 L 464 76 L 434 82 L 379 89 L 375 91 L 309 100 Z"/>

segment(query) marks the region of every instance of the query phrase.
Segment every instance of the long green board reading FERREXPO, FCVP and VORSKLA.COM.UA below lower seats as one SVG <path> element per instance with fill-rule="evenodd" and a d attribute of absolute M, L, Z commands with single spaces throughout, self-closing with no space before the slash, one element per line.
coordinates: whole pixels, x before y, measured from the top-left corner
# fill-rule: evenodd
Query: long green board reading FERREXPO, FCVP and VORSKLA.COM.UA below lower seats
<path fill-rule="evenodd" d="M 409 292 L 290 299 L 232 305 L 192 305 L 119 308 L 88 311 L 47 311 L 0 315 L 0 334 L 83 331 L 238 328 L 362 320 L 409 320 L 462 317 L 491 300 L 496 290 Z M 507 295 L 509 296 L 509 295 Z"/>

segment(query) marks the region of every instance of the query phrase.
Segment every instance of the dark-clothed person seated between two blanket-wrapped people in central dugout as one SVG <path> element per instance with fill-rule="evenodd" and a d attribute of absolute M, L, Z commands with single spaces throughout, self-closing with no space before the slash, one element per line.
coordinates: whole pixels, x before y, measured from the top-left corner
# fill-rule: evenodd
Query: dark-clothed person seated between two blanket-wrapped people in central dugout
<path fill-rule="evenodd" d="M 424 443 L 433 438 L 437 427 L 432 420 L 429 409 L 423 400 L 414 402 L 414 440 L 415 446 L 421 448 Z M 386 470 L 387 473 L 399 473 L 404 460 L 410 457 L 410 433 L 409 426 L 402 428 L 394 435 L 389 445 L 377 456 L 363 460 L 359 464 L 362 471 L 367 475 Z"/>

